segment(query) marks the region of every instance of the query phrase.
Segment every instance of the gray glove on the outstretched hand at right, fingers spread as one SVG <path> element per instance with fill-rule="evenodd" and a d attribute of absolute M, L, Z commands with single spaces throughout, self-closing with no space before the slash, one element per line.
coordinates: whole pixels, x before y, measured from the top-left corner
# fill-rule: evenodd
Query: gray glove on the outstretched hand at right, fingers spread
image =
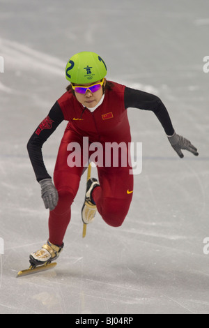
<path fill-rule="evenodd" d="M 174 132 L 173 135 L 171 135 L 171 137 L 168 136 L 168 139 L 169 142 L 171 143 L 171 146 L 173 147 L 173 149 L 176 151 L 176 153 L 180 158 L 184 157 L 181 149 L 186 149 L 187 151 L 190 151 L 195 156 L 199 155 L 197 149 L 193 146 L 193 144 L 191 144 L 189 140 L 185 139 L 185 137 L 182 137 L 181 135 L 177 135 L 176 132 Z"/>

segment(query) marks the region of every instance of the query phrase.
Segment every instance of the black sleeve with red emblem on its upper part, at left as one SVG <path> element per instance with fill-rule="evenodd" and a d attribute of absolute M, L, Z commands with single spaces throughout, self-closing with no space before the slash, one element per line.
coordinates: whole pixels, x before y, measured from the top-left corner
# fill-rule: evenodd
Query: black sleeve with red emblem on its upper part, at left
<path fill-rule="evenodd" d="M 56 102 L 47 117 L 43 119 L 29 139 L 27 149 L 37 181 L 51 178 L 42 158 L 42 145 L 56 130 L 57 126 L 61 124 L 63 119 L 64 117 L 61 107 L 59 106 L 59 103 Z"/>

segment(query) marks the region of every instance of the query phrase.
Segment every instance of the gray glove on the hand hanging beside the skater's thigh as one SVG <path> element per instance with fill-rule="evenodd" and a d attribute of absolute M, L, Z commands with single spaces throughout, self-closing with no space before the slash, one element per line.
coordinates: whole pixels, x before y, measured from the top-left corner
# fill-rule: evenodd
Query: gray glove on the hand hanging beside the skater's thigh
<path fill-rule="evenodd" d="M 45 203 L 45 208 L 52 211 L 58 203 L 58 192 L 52 182 L 52 179 L 43 179 L 39 181 L 41 186 L 41 197 Z"/>

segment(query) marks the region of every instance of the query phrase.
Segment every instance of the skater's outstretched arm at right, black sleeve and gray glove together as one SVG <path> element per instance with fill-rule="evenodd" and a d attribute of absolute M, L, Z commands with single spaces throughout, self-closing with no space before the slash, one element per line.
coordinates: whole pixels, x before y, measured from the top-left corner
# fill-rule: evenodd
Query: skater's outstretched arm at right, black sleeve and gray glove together
<path fill-rule="evenodd" d="M 144 91 L 125 87 L 124 102 L 125 108 L 135 107 L 141 110 L 151 110 L 154 112 L 164 128 L 171 146 L 180 158 L 184 157 L 182 149 L 190 151 L 195 156 L 199 155 L 196 147 L 194 147 L 189 140 L 176 134 L 171 123 L 171 118 L 169 117 L 169 112 L 159 97 Z"/>

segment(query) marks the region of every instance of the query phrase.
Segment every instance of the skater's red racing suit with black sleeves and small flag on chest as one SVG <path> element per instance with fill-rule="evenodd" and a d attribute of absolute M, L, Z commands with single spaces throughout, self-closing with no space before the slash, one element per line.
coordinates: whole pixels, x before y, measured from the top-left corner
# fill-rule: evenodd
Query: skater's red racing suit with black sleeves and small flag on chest
<path fill-rule="evenodd" d="M 111 89 L 105 91 L 102 104 L 93 112 L 78 102 L 72 92 L 67 91 L 56 101 L 49 115 L 42 121 L 28 143 L 29 156 L 38 181 L 49 178 L 42 160 L 42 144 L 47 140 L 61 121 L 68 121 L 59 147 L 54 169 L 54 185 L 59 193 L 59 202 L 53 211 L 49 211 L 49 241 L 61 245 L 70 222 L 70 209 L 84 172 L 84 166 L 93 154 L 91 146 L 100 143 L 102 157 L 105 158 L 105 145 L 109 142 L 126 145 L 131 142 L 130 124 L 127 107 L 152 110 L 160 120 L 165 132 L 173 134 L 169 114 L 160 98 L 143 91 L 127 88 L 112 82 Z M 88 139 L 87 139 L 88 137 Z M 84 138 L 88 140 L 88 153 L 84 151 Z M 69 144 L 79 144 L 82 161 L 80 165 L 70 167 L 68 158 L 72 154 Z M 120 149 L 119 149 L 120 150 Z M 99 153 L 101 154 L 101 153 Z M 121 163 L 118 151 L 118 165 L 100 165 L 98 161 L 98 179 L 100 187 L 93 191 L 93 200 L 103 220 L 114 227 L 122 225 L 133 195 L 133 174 L 131 174 L 130 152 L 127 151 L 127 165 Z M 87 164 L 88 165 L 88 164 Z"/>

